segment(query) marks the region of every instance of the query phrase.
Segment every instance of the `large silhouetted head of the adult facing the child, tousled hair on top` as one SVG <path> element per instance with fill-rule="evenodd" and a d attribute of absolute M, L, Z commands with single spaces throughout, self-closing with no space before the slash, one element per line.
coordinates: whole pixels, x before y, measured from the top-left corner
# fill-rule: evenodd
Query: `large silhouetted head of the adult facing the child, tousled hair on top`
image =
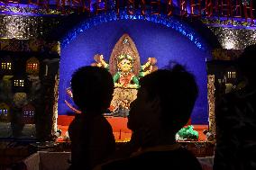
<path fill-rule="evenodd" d="M 137 99 L 131 104 L 128 127 L 138 130 L 158 123 L 176 133 L 187 124 L 197 99 L 197 83 L 178 64 L 140 79 Z M 157 125 L 159 126 L 159 125 Z"/>

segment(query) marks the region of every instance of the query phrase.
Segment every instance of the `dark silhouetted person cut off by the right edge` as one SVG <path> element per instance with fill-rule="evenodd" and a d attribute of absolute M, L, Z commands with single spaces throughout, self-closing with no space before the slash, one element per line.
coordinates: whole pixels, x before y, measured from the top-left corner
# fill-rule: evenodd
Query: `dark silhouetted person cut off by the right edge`
<path fill-rule="evenodd" d="M 242 83 L 216 104 L 214 169 L 256 169 L 256 45 L 236 59 Z"/>

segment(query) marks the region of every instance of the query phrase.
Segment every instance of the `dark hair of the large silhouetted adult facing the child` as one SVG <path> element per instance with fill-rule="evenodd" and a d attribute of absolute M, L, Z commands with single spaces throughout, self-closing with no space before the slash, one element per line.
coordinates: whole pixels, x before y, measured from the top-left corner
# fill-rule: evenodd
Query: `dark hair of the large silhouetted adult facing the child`
<path fill-rule="evenodd" d="M 169 68 L 142 77 L 140 83 L 149 92 L 150 100 L 160 98 L 160 121 L 164 128 L 178 131 L 187 124 L 198 90 L 194 76 L 184 67 L 170 62 Z"/>

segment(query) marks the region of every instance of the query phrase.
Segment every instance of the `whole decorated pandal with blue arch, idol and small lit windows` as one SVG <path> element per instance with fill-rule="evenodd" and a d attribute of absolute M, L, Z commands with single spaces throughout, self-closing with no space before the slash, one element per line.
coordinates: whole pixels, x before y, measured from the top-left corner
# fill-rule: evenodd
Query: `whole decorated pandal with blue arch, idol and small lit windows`
<path fill-rule="evenodd" d="M 70 78 L 83 66 L 105 67 L 113 76 L 104 115 L 117 146 L 127 144 L 139 80 L 169 60 L 187 66 L 200 93 L 176 139 L 197 157 L 213 158 L 215 96 L 228 91 L 215 85 L 232 88 L 233 59 L 256 42 L 254 2 L 119 2 L 0 1 L 0 169 L 32 155 L 27 146 L 70 151 L 69 124 L 81 113 Z M 79 14 L 84 18 L 71 22 Z M 14 142 L 23 147 L 12 148 Z"/>

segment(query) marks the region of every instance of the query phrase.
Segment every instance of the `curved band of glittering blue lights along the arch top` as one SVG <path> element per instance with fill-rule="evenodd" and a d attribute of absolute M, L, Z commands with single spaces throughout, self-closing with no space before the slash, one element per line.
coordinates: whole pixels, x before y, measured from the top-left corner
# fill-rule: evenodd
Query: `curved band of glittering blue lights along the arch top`
<path fill-rule="evenodd" d="M 136 21 L 148 21 L 155 22 L 165 25 L 166 27 L 172 28 L 175 31 L 183 34 L 187 37 L 188 40 L 193 41 L 198 49 L 206 50 L 206 45 L 202 38 L 197 34 L 197 32 L 192 29 L 187 23 L 182 22 L 174 17 L 168 17 L 166 15 L 141 15 L 141 14 L 133 14 L 129 15 L 125 11 L 120 12 L 119 16 L 116 15 L 115 12 L 98 14 L 95 17 L 88 18 L 85 22 L 82 22 L 72 31 L 60 40 L 62 48 L 66 47 L 71 40 L 74 40 L 78 37 L 79 33 L 86 31 L 96 25 L 99 25 L 104 22 L 112 22 L 119 20 L 136 20 Z"/>

